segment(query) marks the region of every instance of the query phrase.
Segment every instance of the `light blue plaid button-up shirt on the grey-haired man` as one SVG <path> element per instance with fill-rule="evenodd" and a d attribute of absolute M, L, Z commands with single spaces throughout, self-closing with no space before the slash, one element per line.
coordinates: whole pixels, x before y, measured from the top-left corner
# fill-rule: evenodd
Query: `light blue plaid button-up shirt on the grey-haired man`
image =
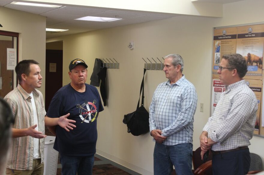
<path fill-rule="evenodd" d="M 197 106 L 196 90 L 185 76 L 176 83 L 158 85 L 149 107 L 150 131 L 160 129 L 164 145 L 193 142 L 193 116 Z"/>

